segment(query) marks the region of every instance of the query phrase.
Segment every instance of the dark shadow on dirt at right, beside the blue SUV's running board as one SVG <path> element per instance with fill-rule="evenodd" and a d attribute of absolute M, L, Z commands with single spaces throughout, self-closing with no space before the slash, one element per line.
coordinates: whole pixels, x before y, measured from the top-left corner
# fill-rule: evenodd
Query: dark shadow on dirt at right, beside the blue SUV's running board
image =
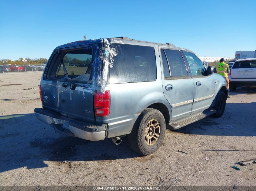
<path fill-rule="evenodd" d="M 176 132 L 213 136 L 256 136 L 255 108 L 256 102 L 226 103 L 222 117 L 209 116 L 178 129 Z M 232 126 L 233 128 L 223 128 L 225 126 Z"/>

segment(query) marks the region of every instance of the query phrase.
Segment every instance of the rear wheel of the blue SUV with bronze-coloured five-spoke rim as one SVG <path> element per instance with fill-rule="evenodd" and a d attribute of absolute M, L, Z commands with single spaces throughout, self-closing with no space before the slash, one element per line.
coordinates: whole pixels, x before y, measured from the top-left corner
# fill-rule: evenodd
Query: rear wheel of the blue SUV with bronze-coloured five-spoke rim
<path fill-rule="evenodd" d="M 156 109 L 146 108 L 136 120 L 128 141 L 131 148 L 143 155 L 158 150 L 165 137 L 165 118 Z"/>

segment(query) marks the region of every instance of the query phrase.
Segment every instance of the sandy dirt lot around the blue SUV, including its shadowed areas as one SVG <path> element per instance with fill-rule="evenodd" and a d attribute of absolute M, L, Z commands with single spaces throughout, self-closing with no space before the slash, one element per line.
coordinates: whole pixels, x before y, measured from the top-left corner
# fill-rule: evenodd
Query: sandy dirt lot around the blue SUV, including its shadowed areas
<path fill-rule="evenodd" d="M 0 74 L 0 185 L 256 185 L 256 164 L 235 164 L 256 158 L 256 88 L 232 92 L 219 119 L 166 130 L 161 148 L 141 157 L 125 138 L 114 145 L 65 137 L 37 120 L 41 75 Z"/>

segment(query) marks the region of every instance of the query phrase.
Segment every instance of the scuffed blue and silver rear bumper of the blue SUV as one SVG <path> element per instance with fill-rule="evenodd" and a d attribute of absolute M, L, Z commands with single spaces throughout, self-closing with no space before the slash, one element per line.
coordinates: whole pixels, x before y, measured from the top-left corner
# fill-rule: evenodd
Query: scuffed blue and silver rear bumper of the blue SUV
<path fill-rule="evenodd" d="M 89 141 L 100 141 L 106 136 L 106 124 L 94 125 L 41 108 L 35 108 L 34 112 L 37 119 L 53 127 L 59 134 L 75 136 Z"/>

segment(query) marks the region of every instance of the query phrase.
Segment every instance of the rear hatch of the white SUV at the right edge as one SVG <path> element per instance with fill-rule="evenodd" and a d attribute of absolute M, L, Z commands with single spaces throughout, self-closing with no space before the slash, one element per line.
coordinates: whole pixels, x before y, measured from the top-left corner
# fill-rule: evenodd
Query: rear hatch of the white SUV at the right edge
<path fill-rule="evenodd" d="M 256 60 L 236 61 L 231 69 L 232 79 L 256 79 Z"/>

